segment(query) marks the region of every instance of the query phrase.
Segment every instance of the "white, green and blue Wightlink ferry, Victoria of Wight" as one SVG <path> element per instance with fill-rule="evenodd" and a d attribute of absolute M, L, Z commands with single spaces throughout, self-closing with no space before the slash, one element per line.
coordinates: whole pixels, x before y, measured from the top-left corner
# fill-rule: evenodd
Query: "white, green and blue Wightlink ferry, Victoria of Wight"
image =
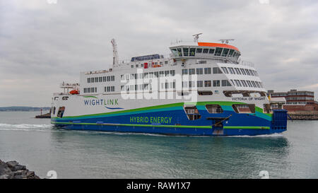
<path fill-rule="evenodd" d="M 51 123 L 62 129 L 186 136 L 281 133 L 287 111 L 272 110 L 264 83 L 240 49 L 221 42 L 177 41 L 170 54 L 119 60 L 80 73 L 52 96 Z"/>

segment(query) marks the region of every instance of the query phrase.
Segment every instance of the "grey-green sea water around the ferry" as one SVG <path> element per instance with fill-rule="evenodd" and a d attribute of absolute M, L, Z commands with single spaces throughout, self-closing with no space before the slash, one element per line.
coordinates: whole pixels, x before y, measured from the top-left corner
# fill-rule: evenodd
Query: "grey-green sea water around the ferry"
<path fill-rule="evenodd" d="M 0 112 L 0 159 L 40 177 L 318 178 L 318 121 L 288 121 L 283 134 L 204 137 L 67 131 L 37 114 Z"/>

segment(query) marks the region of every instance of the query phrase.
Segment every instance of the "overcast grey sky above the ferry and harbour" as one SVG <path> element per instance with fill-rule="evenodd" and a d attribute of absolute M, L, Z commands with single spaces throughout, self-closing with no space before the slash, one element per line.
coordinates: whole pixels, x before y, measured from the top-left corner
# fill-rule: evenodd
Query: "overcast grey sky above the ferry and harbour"
<path fill-rule="evenodd" d="M 49 4 L 57 1 L 57 4 Z M 0 106 L 50 106 L 59 83 L 172 40 L 235 39 L 266 89 L 318 93 L 318 1 L 0 0 Z"/>

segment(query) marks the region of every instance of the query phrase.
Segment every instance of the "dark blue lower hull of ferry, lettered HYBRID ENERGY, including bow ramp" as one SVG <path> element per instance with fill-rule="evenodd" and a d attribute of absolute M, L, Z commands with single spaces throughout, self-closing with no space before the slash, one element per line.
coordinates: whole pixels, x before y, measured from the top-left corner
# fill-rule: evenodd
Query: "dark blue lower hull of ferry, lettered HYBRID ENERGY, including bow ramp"
<path fill-rule="evenodd" d="M 274 111 L 273 117 L 261 112 L 239 114 L 225 110 L 222 114 L 210 114 L 200 110 L 200 119 L 189 120 L 184 110 L 129 113 L 127 115 L 92 115 L 52 118 L 52 124 L 62 129 L 86 131 L 118 131 L 147 134 L 187 136 L 240 136 L 281 133 L 286 131 L 287 112 Z M 213 117 L 228 117 L 222 127 L 215 127 Z M 212 120 L 211 120 L 212 119 Z"/>

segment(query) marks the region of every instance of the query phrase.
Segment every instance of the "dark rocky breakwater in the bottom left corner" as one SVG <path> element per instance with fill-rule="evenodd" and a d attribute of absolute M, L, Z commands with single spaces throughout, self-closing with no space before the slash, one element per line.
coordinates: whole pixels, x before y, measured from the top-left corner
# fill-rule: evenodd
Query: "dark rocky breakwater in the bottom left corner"
<path fill-rule="evenodd" d="M 0 179 L 40 179 L 40 177 L 16 161 L 0 160 Z"/>

